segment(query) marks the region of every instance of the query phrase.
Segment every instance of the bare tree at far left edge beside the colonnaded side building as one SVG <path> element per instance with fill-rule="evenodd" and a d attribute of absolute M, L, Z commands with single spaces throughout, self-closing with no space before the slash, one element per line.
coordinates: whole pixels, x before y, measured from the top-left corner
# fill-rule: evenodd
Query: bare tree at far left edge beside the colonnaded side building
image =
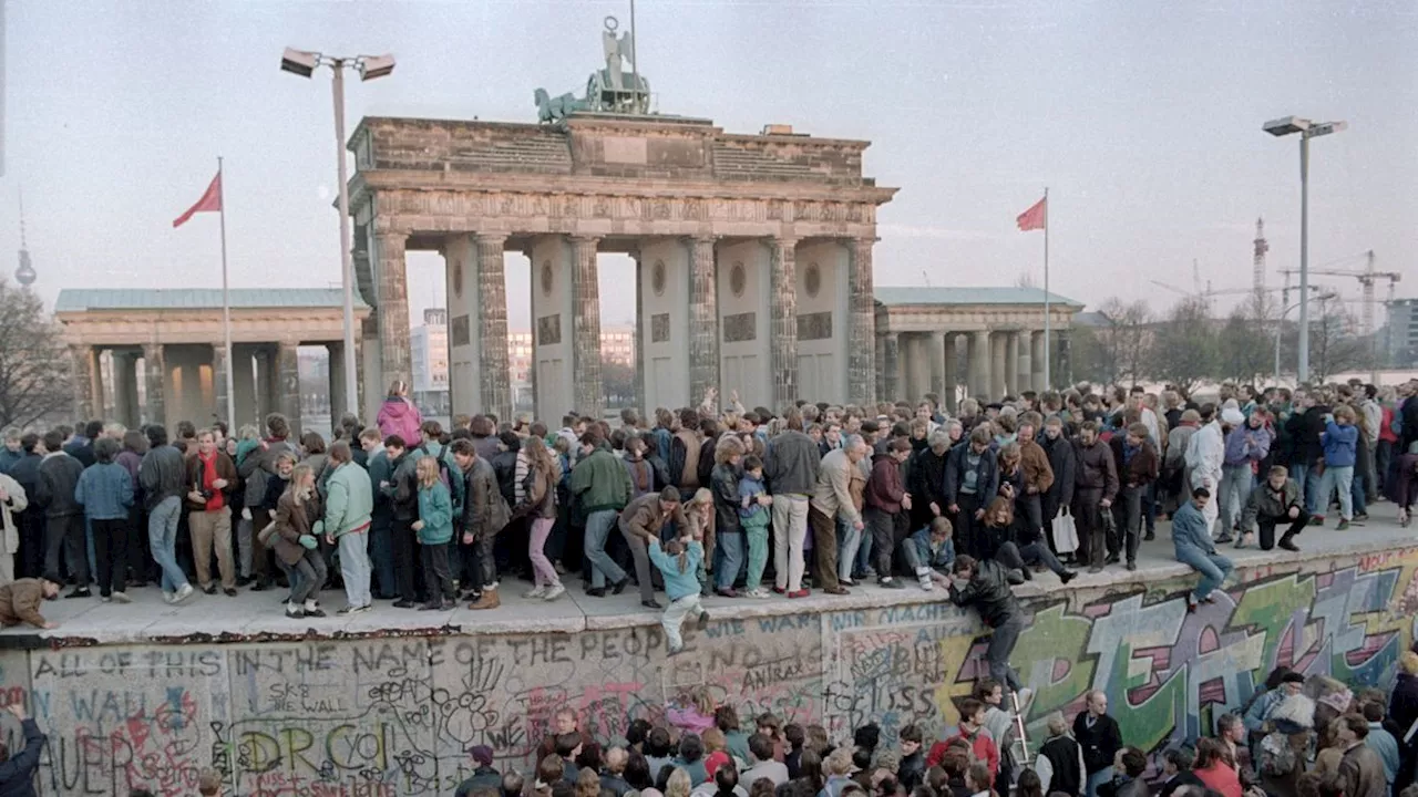
<path fill-rule="evenodd" d="M 27 427 L 72 406 L 67 355 L 40 298 L 0 278 L 0 425 Z"/>

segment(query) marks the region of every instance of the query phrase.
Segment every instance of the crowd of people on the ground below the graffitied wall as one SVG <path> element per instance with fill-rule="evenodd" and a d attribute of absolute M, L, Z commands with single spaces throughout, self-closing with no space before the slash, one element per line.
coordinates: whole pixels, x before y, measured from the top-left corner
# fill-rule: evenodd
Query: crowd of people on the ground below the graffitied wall
<path fill-rule="evenodd" d="M 1028 742 L 993 678 L 957 699 L 959 725 L 908 725 L 888 745 L 876 723 L 837 740 L 771 713 L 740 718 L 703 689 L 676 695 L 655 722 L 597 740 L 574 709 L 552 718 L 530 771 L 469 749 L 457 797 L 1414 797 L 1418 654 L 1391 693 L 1351 692 L 1278 668 L 1214 733 L 1159 750 L 1129 745 L 1107 695 L 1089 691 L 1072 720 L 1044 719 Z M 1027 708 L 1022 708 L 1027 710 Z M 1151 729 L 1149 729 L 1150 732 Z"/>

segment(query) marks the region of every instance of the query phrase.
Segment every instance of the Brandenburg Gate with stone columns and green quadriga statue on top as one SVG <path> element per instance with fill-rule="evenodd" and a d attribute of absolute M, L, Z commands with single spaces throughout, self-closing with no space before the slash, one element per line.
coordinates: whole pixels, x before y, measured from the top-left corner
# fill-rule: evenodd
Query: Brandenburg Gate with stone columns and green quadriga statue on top
<path fill-rule="evenodd" d="M 872 245 L 895 189 L 868 142 L 645 113 L 607 31 L 587 99 L 537 91 L 542 123 L 364 118 L 349 147 L 367 416 L 410 377 L 410 250 L 447 262 L 454 413 L 509 417 L 503 254 L 532 262 L 536 414 L 604 406 L 598 252 L 635 260 L 642 407 L 876 396 Z M 638 82 L 637 82 L 638 81 Z"/>

